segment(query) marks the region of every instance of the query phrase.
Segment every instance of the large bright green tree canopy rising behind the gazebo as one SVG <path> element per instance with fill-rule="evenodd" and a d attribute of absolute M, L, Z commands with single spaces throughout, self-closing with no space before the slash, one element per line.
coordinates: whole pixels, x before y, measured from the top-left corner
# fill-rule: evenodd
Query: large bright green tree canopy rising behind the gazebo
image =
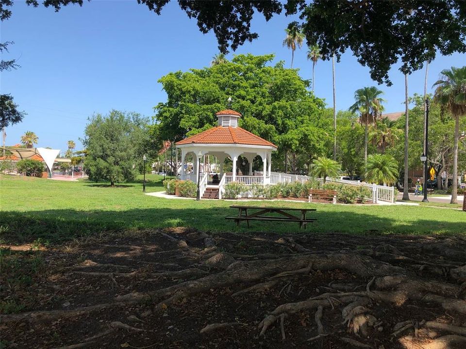
<path fill-rule="evenodd" d="M 237 55 L 232 62 L 162 77 L 168 96 L 155 107 L 152 136 L 180 141 L 216 126 L 215 113 L 227 108 L 242 114 L 240 127 L 275 143 L 279 151 L 305 152 L 307 163 L 325 152 L 331 120 L 323 117 L 324 101 L 309 90 L 309 81 L 283 62 L 268 65 L 274 55 Z"/>

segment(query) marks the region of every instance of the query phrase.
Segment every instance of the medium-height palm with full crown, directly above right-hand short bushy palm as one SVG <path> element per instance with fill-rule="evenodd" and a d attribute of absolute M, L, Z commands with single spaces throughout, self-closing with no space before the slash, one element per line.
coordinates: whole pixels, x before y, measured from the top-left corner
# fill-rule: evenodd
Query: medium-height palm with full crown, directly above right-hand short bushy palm
<path fill-rule="evenodd" d="M 364 163 L 367 163 L 367 143 L 368 143 L 368 125 L 373 124 L 383 111 L 382 103 L 385 102 L 380 97 L 383 92 L 375 86 L 365 87 L 354 92 L 356 102 L 350 107 L 351 112 L 360 113 L 360 122 L 365 125 L 364 138 Z"/>

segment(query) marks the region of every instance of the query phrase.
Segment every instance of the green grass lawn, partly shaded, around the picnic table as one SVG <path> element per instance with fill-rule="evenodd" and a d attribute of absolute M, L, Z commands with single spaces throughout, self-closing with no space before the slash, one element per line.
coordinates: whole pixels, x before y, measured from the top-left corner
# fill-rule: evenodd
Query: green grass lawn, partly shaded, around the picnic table
<path fill-rule="evenodd" d="M 147 191 L 163 190 L 162 176 L 149 175 Z M 243 222 L 239 228 L 226 216 L 237 215 L 232 201 L 163 199 L 142 193 L 142 183 L 111 188 L 105 183 L 62 182 L 0 176 L 0 234 L 5 242 L 40 243 L 122 229 L 189 226 L 218 233 L 254 231 L 293 233 L 297 223 Z M 311 207 L 317 221 L 309 233 L 464 234 L 466 213 L 423 206 L 254 202 L 254 206 Z"/>

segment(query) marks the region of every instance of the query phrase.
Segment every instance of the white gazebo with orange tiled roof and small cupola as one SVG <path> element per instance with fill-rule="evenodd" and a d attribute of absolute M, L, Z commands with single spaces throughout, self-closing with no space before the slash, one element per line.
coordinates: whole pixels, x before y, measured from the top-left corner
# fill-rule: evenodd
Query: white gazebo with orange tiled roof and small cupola
<path fill-rule="evenodd" d="M 277 146 L 238 127 L 241 114 L 237 111 L 223 110 L 217 112 L 216 116 L 218 118 L 216 127 L 176 143 L 177 148 L 181 150 L 181 179 L 190 179 L 197 183 L 200 159 L 204 155 L 213 155 L 218 159 L 220 164 L 220 173 L 217 174 L 218 180 L 213 178 L 215 174 L 209 174 L 208 171 L 205 171 L 205 173 L 201 172 L 201 196 L 204 190 L 210 187 L 212 190 L 218 190 L 218 197 L 221 197 L 221 188 L 230 182 L 241 182 L 246 185 L 269 184 L 271 155 L 272 151 L 277 150 Z M 188 154 L 192 154 L 195 159 L 192 174 L 187 174 L 184 168 L 185 158 Z M 237 175 L 237 161 L 240 156 L 248 159 L 249 175 Z M 263 161 L 261 175 L 251 175 L 252 160 L 256 156 L 260 156 Z M 226 158 L 230 158 L 233 161 L 233 172 L 231 175 L 227 175 L 223 171 L 223 162 Z"/>

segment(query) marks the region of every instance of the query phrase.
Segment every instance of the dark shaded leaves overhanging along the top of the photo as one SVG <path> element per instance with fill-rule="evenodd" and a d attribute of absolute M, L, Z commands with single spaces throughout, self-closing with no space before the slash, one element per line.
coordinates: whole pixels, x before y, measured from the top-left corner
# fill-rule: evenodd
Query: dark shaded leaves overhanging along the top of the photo
<path fill-rule="evenodd" d="M 137 2 L 161 15 L 168 0 Z M 0 3 L 1 20 L 9 18 L 13 1 Z M 26 3 L 37 7 L 39 0 Z M 83 0 L 43 0 L 42 4 L 58 12 L 68 4 L 82 6 Z M 409 74 L 432 61 L 437 51 L 442 55 L 466 52 L 466 2 L 461 0 L 178 0 L 178 4 L 189 18 L 197 20 L 200 32 L 215 33 L 222 53 L 259 37 L 251 31 L 253 16 L 262 14 L 268 21 L 283 11 L 285 15 L 299 14 L 308 46 L 319 45 L 324 60 L 333 54 L 339 60 L 350 49 L 359 63 L 369 67 L 372 79 L 388 85 L 388 71 L 399 61 L 400 70 Z"/>

